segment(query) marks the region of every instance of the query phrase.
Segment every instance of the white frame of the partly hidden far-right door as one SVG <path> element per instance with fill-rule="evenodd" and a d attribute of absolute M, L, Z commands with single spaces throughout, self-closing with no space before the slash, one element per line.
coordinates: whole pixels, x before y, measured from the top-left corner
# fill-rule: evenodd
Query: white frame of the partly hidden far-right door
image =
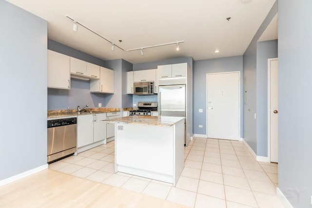
<path fill-rule="evenodd" d="M 271 162 L 271 61 L 273 60 L 278 61 L 278 57 L 268 58 L 268 162 Z"/>

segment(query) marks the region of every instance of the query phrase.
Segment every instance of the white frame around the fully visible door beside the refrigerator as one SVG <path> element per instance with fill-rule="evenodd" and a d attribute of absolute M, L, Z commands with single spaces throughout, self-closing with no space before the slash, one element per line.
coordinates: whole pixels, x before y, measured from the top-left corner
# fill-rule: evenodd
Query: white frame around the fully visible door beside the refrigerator
<path fill-rule="evenodd" d="M 218 73 L 208 73 L 206 74 L 206 137 L 208 138 L 208 76 L 209 75 L 218 75 L 218 74 L 233 74 L 233 73 L 238 73 L 238 95 L 239 95 L 239 101 L 238 101 L 238 131 L 239 131 L 239 138 L 234 139 L 237 141 L 241 140 L 241 118 L 240 118 L 240 114 L 241 114 L 241 77 L 240 77 L 240 71 L 233 71 L 233 72 L 218 72 Z"/>

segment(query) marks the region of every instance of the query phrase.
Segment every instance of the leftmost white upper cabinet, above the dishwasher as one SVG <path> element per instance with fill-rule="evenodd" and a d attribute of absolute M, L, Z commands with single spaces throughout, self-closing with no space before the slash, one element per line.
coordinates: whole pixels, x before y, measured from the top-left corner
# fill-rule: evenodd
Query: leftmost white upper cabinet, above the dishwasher
<path fill-rule="evenodd" d="M 70 89 L 70 57 L 48 50 L 48 88 Z"/>

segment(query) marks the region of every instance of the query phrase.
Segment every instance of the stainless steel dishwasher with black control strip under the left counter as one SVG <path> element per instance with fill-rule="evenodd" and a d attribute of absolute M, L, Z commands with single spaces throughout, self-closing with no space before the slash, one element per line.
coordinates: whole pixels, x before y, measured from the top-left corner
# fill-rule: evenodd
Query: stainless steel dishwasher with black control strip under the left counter
<path fill-rule="evenodd" d="M 77 151 L 77 117 L 48 120 L 47 162 Z"/>

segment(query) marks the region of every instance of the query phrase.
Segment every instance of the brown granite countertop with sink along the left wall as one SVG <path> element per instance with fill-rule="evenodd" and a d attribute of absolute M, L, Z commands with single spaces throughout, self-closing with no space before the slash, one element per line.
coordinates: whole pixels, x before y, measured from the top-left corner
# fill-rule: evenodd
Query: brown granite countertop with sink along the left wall
<path fill-rule="evenodd" d="M 48 111 L 48 118 L 56 117 L 66 117 L 66 116 L 77 116 L 77 115 L 87 115 L 95 113 L 109 113 L 109 112 L 119 112 L 120 108 L 88 108 L 85 111 L 78 113 L 77 109 L 69 110 L 52 110 Z"/>

